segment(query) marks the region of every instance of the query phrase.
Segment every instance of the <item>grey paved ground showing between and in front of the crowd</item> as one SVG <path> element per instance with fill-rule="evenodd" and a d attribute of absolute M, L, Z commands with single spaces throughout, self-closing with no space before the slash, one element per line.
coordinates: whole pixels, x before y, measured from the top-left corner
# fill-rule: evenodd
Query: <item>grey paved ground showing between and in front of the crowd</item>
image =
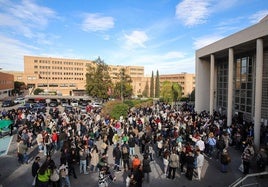
<path fill-rule="evenodd" d="M 9 144 L 4 143 L 5 139 L 0 139 L 0 144 Z M 108 154 L 112 155 L 112 146 L 109 147 Z M 136 147 L 138 151 L 138 147 Z M 238 167 L 241 163 L 240 160 L 240 151 L 235 150 L 234 148 L 229 148 L 230 155 L 232 157 L 232 162 L 229 165 L 229 172 L 228 173 L 221 173 L 220 172 L 220 164 L 219 161 L 216 159 L 208 159 L 206 158 L 205 165 L 203 167 L 202 172 L 202 180 L 201 181 L 189 181 L 184 175 L 179 175 L 177 172 L 176 179 L 170 180 L 166 179 L 163 175 L 163 168 L 162 168 L 162 159 L 155 158 L 155 161 L 151 162 L 152 172 L 150 173 L 150 182 L 144 182 L 143 186 L 149 187 L 160 187 L 160 186 L 170 186 L 170 187 L 195 187 L 195 186 L 206 186 L 206 187 L 225 187 L 232 184 L 236 179 L 243 176 L 243 174 L 238 170 Z M 38 153 L 36 146 L 30 149 L 30 158 L 31 162 L 25 165 L 19 165 L 17 162 L 16 157 L 16 137 L 14 136 L 11 139 L 10 146 L 6 155 L 2 155 L 0 157 L 0 184 L 3 187 L 29 187 L 32 183 L 32 176 L 31 176 L 31 165 L 33 162 L 33 158 L 36 155 L 40 155 L 42 160 L 45 159 L 43 154 Z M 53 154 L 54 161 L 59 164 L 59 157 L 60 152 Z M 141 157 L 141 156 L 140 156 Z M 142 157 L 141 157 L 142 158 Z M 113 160 L 111 156 L 109 157 L 109 164 L 111 167 L 113 166 Z M 76 165 L 76 173 L 78 175 L 77 179 L 74 179 L 72 176 L 70 177 L 72 186 L 76 187 L 86 187 L 92 186 L 97 187 L 97 180 L 98 180 L 98 173 L 89 173 L 89 175 L 79 174 L 78 165 Z M 125 178 L 127 176 L 126 172 L 119 172 L 115 173 L 117 180 L 111 183 L 109 186 L 111 187 L 124 187 L 125 185 Z M 253 178 L 252 180 L 257 180 Z M 253 181 L 253 182 L 254 182 Z M 267 178 L 258 179 L 260 183 L 259 186 L 265 186 L 268 183 Z"/>

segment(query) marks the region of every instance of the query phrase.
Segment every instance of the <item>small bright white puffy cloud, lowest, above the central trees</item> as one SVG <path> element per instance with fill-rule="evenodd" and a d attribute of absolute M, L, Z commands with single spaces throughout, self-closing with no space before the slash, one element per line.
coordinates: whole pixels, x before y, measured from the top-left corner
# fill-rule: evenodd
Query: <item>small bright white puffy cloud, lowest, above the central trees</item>
<path fill-rule="evenodd" d="M 126 40 L 126 48 L 132 49 L 136 47 L 146 48 L 145 42 L 148 41 L 149 37 L 144 31 L 132 31 L 129 35 L 125 34 L 124 39 Z"/>

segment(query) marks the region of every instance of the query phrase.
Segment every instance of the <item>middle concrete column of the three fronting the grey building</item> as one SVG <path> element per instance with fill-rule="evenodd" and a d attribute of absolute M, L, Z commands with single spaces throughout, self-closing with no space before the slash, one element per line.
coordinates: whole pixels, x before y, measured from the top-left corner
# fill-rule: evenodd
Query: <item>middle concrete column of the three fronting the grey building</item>
<path fill-rule="evenodd" d="M 228 103 L 227 103 L 227 125 L 231 126 L 233 118 L 233 77 L 234 77 L 234 49 L 229 48 L 228 57 Z"/>

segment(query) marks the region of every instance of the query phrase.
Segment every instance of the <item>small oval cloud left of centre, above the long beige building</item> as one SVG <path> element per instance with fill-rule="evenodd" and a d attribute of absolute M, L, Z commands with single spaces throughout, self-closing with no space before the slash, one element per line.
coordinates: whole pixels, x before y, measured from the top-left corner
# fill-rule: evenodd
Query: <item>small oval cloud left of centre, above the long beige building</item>
<path fill-rule="evenodd" d="M 84 17 L 85 18 L 82 23 L 83 31 L 105 31 L 114 27 L 113 17 L 102 17 L 99 14 L 85 14 Z"/>

